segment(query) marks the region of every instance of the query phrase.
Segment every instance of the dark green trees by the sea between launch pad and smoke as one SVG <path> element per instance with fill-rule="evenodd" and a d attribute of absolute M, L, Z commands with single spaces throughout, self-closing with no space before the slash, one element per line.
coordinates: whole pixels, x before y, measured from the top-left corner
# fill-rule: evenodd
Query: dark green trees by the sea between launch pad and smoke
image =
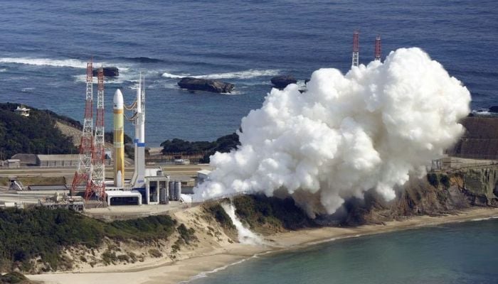
<path fill-rule="evenodd" d="M 208 142 L 208 141 L 184 141 L 178 138 L 174 138 L 173 140 L 166 140 L 161 143 L 161 147 L 163 147 L 161 153 L 164 155 L 170 153 L 185 153 L 188 155 L 204 153 L 204 157 L 202 162 L 208 163 L 209 156 L 213 155 L 216 152 L 227 153 L 231 150 L 240 146 L 240 142 L 238 140 L 237 133 L 232 133 L 227 136 L 223 136 L 218 138 L 216 141 Z"/>

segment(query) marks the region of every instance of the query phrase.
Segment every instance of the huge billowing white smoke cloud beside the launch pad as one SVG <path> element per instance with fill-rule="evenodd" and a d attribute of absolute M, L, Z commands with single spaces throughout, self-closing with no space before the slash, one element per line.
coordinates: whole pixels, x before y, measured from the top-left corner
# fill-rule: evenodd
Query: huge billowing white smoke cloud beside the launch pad
<path fill-rule="evenodd" d="M 216 153 L 210 180 L 195 189 L 208 199 L 282 190 L 307 212 L 334 213 L 344 199 L 375 189 L 396 197 L 409 173 L 424 173 L 461 135 L 470 92 L 419 48 L 386 60 L 313 72 L 307 91 L 272 89 L 263 107 L 242 119 L 241 146 Z M 303 201 L 304 198 L 304 201 Z"/>

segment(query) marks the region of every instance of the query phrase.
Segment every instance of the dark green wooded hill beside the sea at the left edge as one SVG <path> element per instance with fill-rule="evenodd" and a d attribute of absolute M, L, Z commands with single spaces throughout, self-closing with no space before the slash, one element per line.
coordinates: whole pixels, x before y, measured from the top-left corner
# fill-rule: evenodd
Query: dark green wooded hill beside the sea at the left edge
<path fill-rule="evenodd" d="M 55 126 L 58 120 L 73 121 L 52 111 L 31 108 L 30 116 L 14 113 L 20 104 L 0 104 L 0 160 L 16 153 L 67 154 L 77 153 L 70 137 Z"/>

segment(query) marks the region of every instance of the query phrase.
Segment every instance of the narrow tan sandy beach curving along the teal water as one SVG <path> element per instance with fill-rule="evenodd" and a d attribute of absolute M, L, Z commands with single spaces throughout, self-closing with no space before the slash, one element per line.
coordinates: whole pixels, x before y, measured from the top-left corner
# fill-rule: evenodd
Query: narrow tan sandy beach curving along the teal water
<path fill-rule="evenodd" d="M 48 273 L 26 275 L 31 280 L 47 284 L 71 283 L 144 283 L 172 284 L 181 283 L 192 278 L 202 277 L 206 273 L 222 270 L 261 253 L 272 253 L 287 249 L 301 249 L 336 239 L 344 239 L 369 234 L 383 234 L 391 231 L 417 229 L 439 224 L 479 221 L 498 216 L 498 208 L 479 207 L 462 210 L 457 214 L 444 216 L 417 216 L 403 221 L 391 221 L 385 224 L 364 225 L 357 227 L 322 227 L 302 229 L 265 236 L 267 246 L 250 246 L 244 244 L 226 244 L 220 248 L 199 248 L 189 258 L 174 262 L 142 263 L 140 266 L 112 266 L 80 273 Z"/>

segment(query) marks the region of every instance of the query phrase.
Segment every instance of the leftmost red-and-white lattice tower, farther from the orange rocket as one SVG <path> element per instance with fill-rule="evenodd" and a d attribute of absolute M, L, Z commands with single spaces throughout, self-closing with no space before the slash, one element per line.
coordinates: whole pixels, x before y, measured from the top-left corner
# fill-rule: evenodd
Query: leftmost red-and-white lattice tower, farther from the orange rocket
<path fill-rule="evenodd" d="M 87 87 L 85 96 L 85 119 L 80 143 L 78 169 L 71 185 L 71 195 L 80 185 L 85 185 L 85 192 L 92 187 L 92 152 L 93 152 L 93 87 L 92 61 L 87 63 Z"/>

